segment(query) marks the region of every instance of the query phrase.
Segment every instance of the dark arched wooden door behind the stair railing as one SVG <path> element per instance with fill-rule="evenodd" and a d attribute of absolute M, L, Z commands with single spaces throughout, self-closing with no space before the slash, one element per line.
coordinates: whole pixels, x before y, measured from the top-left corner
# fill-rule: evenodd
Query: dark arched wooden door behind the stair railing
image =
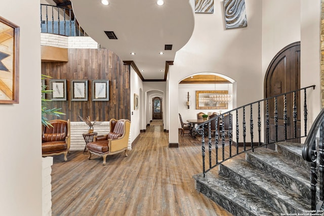
<path fill-rule="evenodd" d="M 265 98 L 300 89 L 300 42 L 282 49 L 272 59 L 265 76 Z M 300 136 L 300 94 L 297 94 L 297 137 Z M 294 138 L 293 94 L 287 95 L 287 139 Z M 269 142 L 275 141 L 274 99 L 269 101 Z M 277 98 L 278 140 L 285 139 L 284 97 Z M 290 142 L 299 142 L 293 139 Z"/>

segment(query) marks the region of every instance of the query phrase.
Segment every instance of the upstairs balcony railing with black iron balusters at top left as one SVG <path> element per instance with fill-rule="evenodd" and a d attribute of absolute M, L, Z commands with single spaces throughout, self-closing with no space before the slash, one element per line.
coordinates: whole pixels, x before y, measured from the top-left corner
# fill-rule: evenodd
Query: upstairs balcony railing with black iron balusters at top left
<path fill-rule="evenodd" d="M 80 27 L 73 10 L 41 4 L 41 32 L 64 36 L 88 36 Z"/>

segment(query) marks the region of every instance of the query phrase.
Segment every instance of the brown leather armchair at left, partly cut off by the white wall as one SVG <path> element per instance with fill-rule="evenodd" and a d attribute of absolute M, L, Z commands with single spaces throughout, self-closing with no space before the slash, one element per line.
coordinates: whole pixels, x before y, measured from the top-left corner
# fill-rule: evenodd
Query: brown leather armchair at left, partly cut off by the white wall
<path fill-rule="evenodd" d="M 67 161 L 67 153 L 70 151 L 70 120 L 51 120 L 53 127 L 42 128 L 42 156 L 64 154 Z"/>

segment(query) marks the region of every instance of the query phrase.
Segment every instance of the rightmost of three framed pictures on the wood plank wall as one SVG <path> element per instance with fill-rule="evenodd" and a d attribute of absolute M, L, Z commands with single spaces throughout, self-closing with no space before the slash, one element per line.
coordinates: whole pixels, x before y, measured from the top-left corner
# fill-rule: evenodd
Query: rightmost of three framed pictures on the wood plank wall
<path fill-rule="evenodd" d="M 107 79 L 92 80 L 92 100 L 109 101 L 109 80 Z"/>

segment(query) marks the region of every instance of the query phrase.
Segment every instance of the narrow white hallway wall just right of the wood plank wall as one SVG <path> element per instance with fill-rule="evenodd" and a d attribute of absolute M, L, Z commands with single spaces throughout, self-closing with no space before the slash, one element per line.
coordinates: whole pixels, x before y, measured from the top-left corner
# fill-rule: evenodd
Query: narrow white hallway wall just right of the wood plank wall
<path fill-rule="evenodd" d="M 140 119 L 141 112 L 143 112 L 143 104 L 141 104 L 142 101 L 142 94 L 141 90 L 143 90 L 143 81 L 140 79 L 140 77 L 137 75 L 135 70 L 131 67 L 131 142 L 138 137 L 140 134 L 140 125 L 143 119 Z M 134 109 L 134 94 L 139 96 L 139 108 L 137 110 Z"/>

